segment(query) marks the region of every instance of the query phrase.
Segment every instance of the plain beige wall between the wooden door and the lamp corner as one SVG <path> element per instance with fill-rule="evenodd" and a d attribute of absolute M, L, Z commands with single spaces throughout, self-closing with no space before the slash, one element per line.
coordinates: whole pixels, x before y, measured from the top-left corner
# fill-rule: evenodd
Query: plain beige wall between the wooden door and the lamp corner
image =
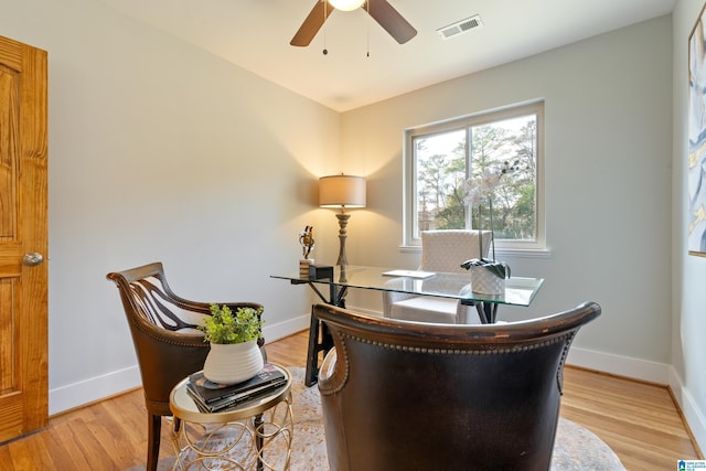
<path fill-rule="evenodd" d="M 6 1 L 0 32 L 49 51 L 52 414 L 139 384 L 108 271 L 162 260 L 186 298 L 264 303 L 270 340 L 308 325 L 269 275 L 329 215 L 336 113 L 92 0 Z"/>

